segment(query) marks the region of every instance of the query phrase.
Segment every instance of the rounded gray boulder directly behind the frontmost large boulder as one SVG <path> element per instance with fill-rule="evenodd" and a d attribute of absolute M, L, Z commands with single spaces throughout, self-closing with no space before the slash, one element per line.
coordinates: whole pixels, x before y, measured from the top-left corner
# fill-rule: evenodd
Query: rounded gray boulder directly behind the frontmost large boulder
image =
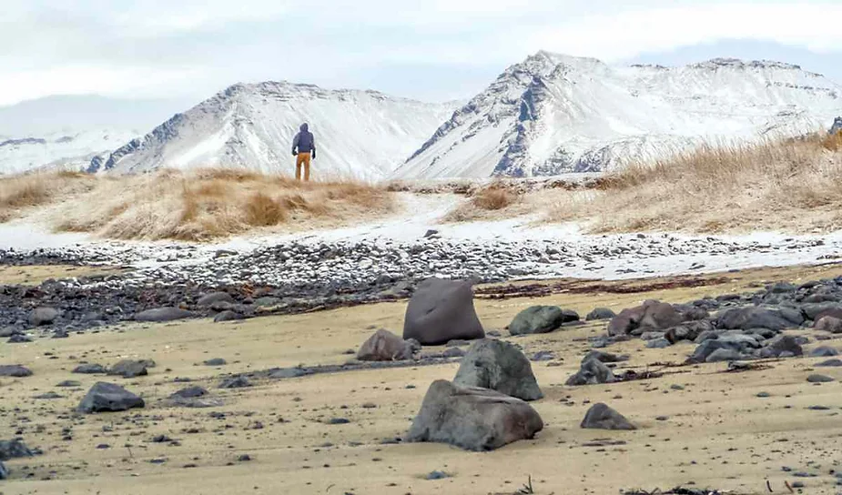
<path fill-rule="evenodd" d="M 512 344 L 491 338 L 473 343 L 462 358 L 453 383 L 497 390 L 523 400 L 543 398 L 529 359 Z"/>

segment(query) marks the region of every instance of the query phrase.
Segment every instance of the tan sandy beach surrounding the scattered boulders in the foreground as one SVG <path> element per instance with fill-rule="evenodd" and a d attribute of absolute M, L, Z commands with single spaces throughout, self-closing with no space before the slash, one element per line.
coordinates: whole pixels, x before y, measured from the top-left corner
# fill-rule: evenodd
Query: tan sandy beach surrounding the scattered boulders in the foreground
<path fill-rule="evenodd" d="M 55 269 L 51 273 L 55 276 Z M 534 304 L 557 304 L 585 314 L 595 307 L 619 310 L 646 298 L 684 302 L 776 280 L 839 275 L 838 265 L 760 269 L 726 274 L 725 282 L 708 287 L 480 299 L 477 309 L 487 329 L 502 329 Z M 9 283 L 14 276 L 0 272 L 0 283 Z M 226 324 L 208 320 L 132 324 L 65 339 L 0 344 L 0 364 L 20 363 L 35 373 L 0 379 L 0 439 L 20 436 L 30 447 L 44 450 L 35 458 L 7 462 L 13 478 L 0 483 L 0 492 L 486 494 L 512 493 L 530 476 L 535 493 L 556 495 L 616 494 L 622 489 L 676 485 L 766 493 L 766 480 L 776 493 L 788 493 L 785 480 L 803 482 L 804 493 L 838 491 L 830 473 L 842 462 L 842 385 L 806 382 L 811 366 L 820 359 L 786 359 L 768 363 L 768 369 L 743 373 L 725 373 L 725 364 L 710 364 L 665 369 L 668 374 L 658 379 L 564 386 L 588 349 L 586 338 L 604 332 L 604 322 L 512 338 L 527 354 L 552 350 L 557 357 L 551 363 L 533 362 L 546 396 L 533 406 L 546 426 L 533 440 L 489 453 L 382 441 L 406 432 L 430 382 L 451 379 L 458 368 L 455 363 L 216 389 L 220 376 L 227 373 L 344 362 L 350 358 L 346 350 L 357 349 L 372 328 L 400 333 L 405 308 L 401 302 Z M 681 361 L 692 349 L 689 344 L 644 349 L 640 341 L 631 341 L 608 350 L 629 354 L 628 367 L 654 370 L 660 369 L 654 363 Z M 425 349 L 435 350 L 439 349 Z M 106 379 L 141 394 L 146 409 L 74 414 L 72 409 L 86 390 L 104 377 L 73 375 L 70 370 L 81 361 L 110 365 L 124 358 L 157 361 L 147 377 Z M 201 364 L 210 358 L 227 359 L 228 365 Z M 819 370 L 842 379 L 837 369 Z M 207 388 L 225 404 L 212 409 L 163 406 L 161 399 L 185 386 L 173 383 L 177 377 L 193 379 L 191 385 Z M 66 379 L 81 385 L 55 387 Z M 33 399 L 48 391 L 64 397 Z M 756 397 L 761 391 L 770 397 Z M 600 401 L 640 429 L 580 429 L 585 411 Z M 807 409 L 813 405 L 829 409 Z M 332 418 L 350 423 L 327 424 Z M 180 445 L 150 441 L 157 435 L 177 439 Z M 600 439 L 610 439 L 614 445 L 595 441 Z M 97 449 L 101 444 L 109 448 Z M 242 454 L 252 460 L 238 460 Z M 796 478 L 782 470 L 785 466 L 818 476 Z M 432 470 L 451 477 L 424 480 Z"/>

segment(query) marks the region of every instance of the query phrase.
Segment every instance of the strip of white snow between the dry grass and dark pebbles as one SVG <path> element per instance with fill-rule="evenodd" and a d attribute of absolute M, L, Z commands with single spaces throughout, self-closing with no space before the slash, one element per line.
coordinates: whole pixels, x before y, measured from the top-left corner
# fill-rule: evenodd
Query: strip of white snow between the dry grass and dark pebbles
<path fill-rule="evenodd" d="M 411 193 L 401 193 L 400 197 L 401 211 L 359 225 L 296 233 L 255 233 L 201 245 L 56 234 L 44 226 L 15 221 L 0 225 L 0 249 L 72 249 L 154 270 L 161 267 L 199 268 L 213 260 L 220 250 L 249 255 L 261 249 L 293 244 L 353 246 L 367 243 L 404 249 L 436 243 L 439 249 L 450 249 L 453 256 L 489 246 L 515 255 L 522 252 L 522 261 L 515 265 L 525 268 L 528 278 L 602 279 L 783 267 L 842 258 L 842 232 L 824 236 L 788 236 L 771 232 L 715 237 L 673 233 L 593 236 L 584 234 L 574 224 L 544 224 L 537 217 L 442 224 L 441 217 L 462 201 L 462 197 Z M 438 233 L 427 238 L 429 230 Z M 627 248 L 629 246 L 634 248 Z M 553 253 L 556 248 L 563 250 L 563 257 L 535 256 L 536 250 Z M 107 256 L 102 256 L 103 253 Z M 489 259 L 489 263 L 493 266 L 495 260 Z"/>

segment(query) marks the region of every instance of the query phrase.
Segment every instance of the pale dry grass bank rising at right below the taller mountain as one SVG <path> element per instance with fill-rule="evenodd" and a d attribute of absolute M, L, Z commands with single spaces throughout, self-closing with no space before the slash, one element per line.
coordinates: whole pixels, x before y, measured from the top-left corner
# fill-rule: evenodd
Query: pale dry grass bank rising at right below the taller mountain
<path fill-rule="evenodd" d="M 556 198 L 549 219 L 593 233 L 827 232 L 842 228 L 842 136 L 703 146 L 633 164 L 598 191 Z"/>

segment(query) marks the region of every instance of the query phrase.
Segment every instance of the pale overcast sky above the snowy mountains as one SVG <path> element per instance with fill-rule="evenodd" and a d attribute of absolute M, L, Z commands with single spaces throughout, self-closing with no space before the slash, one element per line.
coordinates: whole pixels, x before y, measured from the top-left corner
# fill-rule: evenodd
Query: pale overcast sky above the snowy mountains
<path fill-rule="evenodd" d="M 198 101 L 287 79 L 467 98 L 539 49 L 666 65 L 776 58 L 842 82 L 842 1 L 4 0 L 0 105 Z"/>

